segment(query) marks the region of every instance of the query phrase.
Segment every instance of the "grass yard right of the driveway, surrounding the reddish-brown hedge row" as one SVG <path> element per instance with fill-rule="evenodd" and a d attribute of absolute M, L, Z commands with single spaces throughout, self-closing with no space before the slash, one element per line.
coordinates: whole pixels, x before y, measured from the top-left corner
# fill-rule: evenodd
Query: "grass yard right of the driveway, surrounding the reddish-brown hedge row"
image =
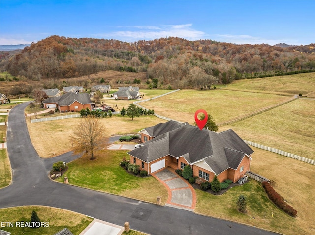
<path fill-rule="evenodd" d="M 253 148 L 251 170 L 276 182 L 275 190 L 298 211 L 292 218 L 278 209 L 265 194 L 261 184 L 254 180 L 229 189 L 221 196 L 196 190 L 195 212 L 229 219 L 287 235 L 314 234 L 315 222 L 315 166 Z M 279 166 L 286 167 L 279 167 Z M 248 199 L 248 213 L 237 211 L 239 195 Z M 274 216 L 272 217 L 272 213 Z"/>

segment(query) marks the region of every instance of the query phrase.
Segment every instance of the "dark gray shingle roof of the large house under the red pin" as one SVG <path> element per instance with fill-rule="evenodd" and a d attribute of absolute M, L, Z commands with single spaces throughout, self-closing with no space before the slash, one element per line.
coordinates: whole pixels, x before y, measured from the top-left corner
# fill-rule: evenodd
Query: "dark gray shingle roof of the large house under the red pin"
<path fill-rule="evenodd" d="M 193 165 L 204 161 L 216 175 L 228 168 L 236 169 L 253 150 L 231 129 L 216 133 L 184 125 L 149 140 L 141 148 L 128 152 L 145 162 L 167 155 L 184 157 Z"/>

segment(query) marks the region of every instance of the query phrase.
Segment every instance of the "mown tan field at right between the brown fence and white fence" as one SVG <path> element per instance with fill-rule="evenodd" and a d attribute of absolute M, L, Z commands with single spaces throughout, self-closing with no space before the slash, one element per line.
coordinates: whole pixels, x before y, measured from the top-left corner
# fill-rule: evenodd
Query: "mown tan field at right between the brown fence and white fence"
<path fill-rule="evenodd" d="M 243 139 L 315 160 L 315 101 L 298 99 L 219 128 Z"/>

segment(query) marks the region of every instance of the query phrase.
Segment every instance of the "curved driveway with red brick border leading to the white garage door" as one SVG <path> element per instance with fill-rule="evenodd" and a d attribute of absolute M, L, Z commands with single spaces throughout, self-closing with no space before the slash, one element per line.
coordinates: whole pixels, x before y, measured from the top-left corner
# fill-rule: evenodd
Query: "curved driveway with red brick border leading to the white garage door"
<path fill-rule="evenodd" d="M 195 209 L 197 201 L 195 190 L 188 181 L 177 175 L 174 169 L 167 168 L 151 175 L 167 188 L 167 206 L 191 211 Z"/>

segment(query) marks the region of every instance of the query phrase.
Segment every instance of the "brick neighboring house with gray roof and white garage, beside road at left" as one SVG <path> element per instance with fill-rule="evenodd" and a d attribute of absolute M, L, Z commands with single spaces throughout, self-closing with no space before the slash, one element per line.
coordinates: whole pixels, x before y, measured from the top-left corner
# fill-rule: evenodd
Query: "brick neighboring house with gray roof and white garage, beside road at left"
<path fill-rule="evenodd" d="M 60 112 L 78 112 L 81 109 L 92 109 L 91 99 L 87 93 L 68 92 L 62 96 L 49 97 L 43 101 L 45 108 L 58 107 Z"/>

